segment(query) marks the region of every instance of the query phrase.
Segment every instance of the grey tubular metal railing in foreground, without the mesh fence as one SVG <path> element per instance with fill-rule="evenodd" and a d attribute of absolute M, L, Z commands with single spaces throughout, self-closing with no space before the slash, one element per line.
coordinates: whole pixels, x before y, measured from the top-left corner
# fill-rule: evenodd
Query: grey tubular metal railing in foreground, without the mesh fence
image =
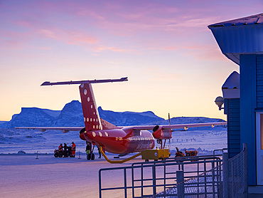
<path fill-rule="evenodd" d="M 190 187 L 193 189 L 194 187 L 196 189 L 195 194 L 218 194 L 219 182 L 222 180 L 222 168 L 220 166 L 222 159 L 220 156 L 222 155 L 176 157 L 176 159 L 170 158 L 163 161 L 136 162 L 129 167 L 101 169 L 99 172 L 100 197 L 102 197 L 103 192 L 119 190 L 122 191 L 123 197 L 177 196 L 177 189 L 172 194 L 172 191 L 168 193 L 167 190 L 175 188 L 180 182 L 190 181 L 190 179 L 195 177 L 198 178 L 197 182 L 183 182 L 183 187 L 186 189 L 190 189 Z M 208 170 L 213 170 L 211 175 L 208 175 Z M 115 179 L 122 179 L 123 185 L 114 186 L 112 184 L 112 187 L 106 184 L 107 187 L 105 187 L 102 183 L 102 172 L 106 177 L 107 174 L 113 174 Z M 181 179 L 178 180 L 178 177 Z M 210 186 L 212 187 L 212 192 L 207 190 Z M 163 193 L 158 194 L 158 192 Z"/>

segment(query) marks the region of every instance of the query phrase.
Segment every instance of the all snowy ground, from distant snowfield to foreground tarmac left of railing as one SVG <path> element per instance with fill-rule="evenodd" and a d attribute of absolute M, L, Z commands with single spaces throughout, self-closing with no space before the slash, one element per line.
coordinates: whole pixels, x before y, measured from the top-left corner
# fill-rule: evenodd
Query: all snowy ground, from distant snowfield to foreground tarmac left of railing
<path fill-rule="evenodd" d="M 75 158 L 55 158 L 53 150 L 60 143 L 77 145 Z M 166 146 L 175 154 L 176 147 L 198 149 L 199 155 L 210 155 L 227 147 L 225 127 L 203 127 L 173 132 Z M 23 150 L 26 155 L 16 155 Z M 36 159 L 36 152 L 39 159 Z M 81 159 L 78 159 L 80 152 Z M 103 158 L 87 161 L 85 142 L 78 132 L 0 129 L 0 197 L 98 197 L 99 170 L 142 162 L 140 157 L 122 165 L 112 165 Z M 109 153 L 107 154 L 109 155 Z M 114 155 L 109 155 L 113 160 Z M 122 157 L 126 158 L 126 157 Z M 122 183 L 121 175 L 104 177 L 104 183 Z M 122 192 L 107 192 L 104 197 L 123 197 Z"/>

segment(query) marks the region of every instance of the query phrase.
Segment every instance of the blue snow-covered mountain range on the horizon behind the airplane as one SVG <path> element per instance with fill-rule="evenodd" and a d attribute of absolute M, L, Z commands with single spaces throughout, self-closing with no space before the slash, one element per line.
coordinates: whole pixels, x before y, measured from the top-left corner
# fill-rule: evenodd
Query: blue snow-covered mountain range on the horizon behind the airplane
<path fill-rule="evenodd" d="M 114 112 L 98 108 L 100 117 L 114 125 L 167 125 L 168 120 L 158 117 L 151 111 L 143 113 Z M 221 122 L 215 118 L 178 117 L 171 118 L 171 124 Z M 82 106 L 77 100 L 65 105 L 63 110 L 41 108 L 21 108 L 21 113 L 13 115 L 9 122 L 1 122 L 0 127 L 40 127 L 40 126 L 79 126 L 84 127 Z"/>

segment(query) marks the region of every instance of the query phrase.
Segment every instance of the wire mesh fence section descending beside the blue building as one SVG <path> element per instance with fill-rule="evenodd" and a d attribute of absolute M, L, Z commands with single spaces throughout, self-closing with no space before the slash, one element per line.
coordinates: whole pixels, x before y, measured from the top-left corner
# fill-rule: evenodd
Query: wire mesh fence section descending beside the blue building
<path fill-rule="evenodd" d="M 177 195 L 176 197 L 247 198 L 247 145 L 244 144 L 242 152 L 231 159 L 228 159 L 228 154 L 223 150 L 223 163 L 220 166 L 192 179 L 184 181 L 177 179 L 176 187 L 161 192 L 155 197 L 174 197 Z M 202 176 L 203 182 L 199 182 L 198 179 Z M 214 180 L 212 184 L 208 182 L 211 179 Z"/>

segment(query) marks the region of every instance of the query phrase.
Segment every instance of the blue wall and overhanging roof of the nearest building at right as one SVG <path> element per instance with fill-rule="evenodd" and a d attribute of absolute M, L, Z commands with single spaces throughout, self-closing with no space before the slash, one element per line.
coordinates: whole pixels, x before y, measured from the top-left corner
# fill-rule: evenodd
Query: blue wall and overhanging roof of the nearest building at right
<path fill-rule="evenodd" d="M 208 26 L 222 53 L 240 65 L 240 148 L 247 143 L 250 186 L 257 185 L 255 117 L 263 112 L 262 19 L 263 14 L 257 14 Z"/>

